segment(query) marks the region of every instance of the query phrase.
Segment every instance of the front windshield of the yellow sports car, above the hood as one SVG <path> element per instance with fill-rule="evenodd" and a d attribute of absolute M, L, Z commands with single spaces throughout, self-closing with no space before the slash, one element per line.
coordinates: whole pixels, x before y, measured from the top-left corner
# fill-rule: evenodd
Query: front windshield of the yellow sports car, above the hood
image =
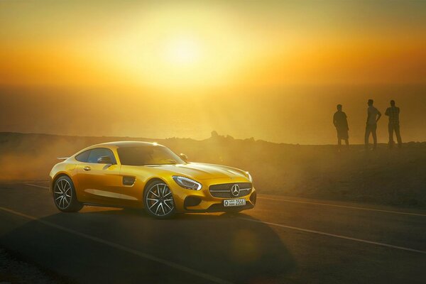
<path fill-rule="evenodd" d="M 118 148 L 121 165 L 173 165 L 185 163 L 164 146 L 144 145 Z"/>

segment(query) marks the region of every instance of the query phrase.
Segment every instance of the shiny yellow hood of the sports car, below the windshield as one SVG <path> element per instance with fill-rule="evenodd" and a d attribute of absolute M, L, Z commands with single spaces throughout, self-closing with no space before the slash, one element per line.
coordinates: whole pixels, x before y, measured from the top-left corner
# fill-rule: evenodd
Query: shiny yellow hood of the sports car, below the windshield
<path fill-rule="evenodd" d="M 173 172 L 173 175 L 183 175 L 195 180 L 206 180 L 211 178 L 246 178 L 243 170 L 226 167 L 225 165 L 187 163 L 178 165 L 155 165 L 155 168 L 168 170 Z"/>

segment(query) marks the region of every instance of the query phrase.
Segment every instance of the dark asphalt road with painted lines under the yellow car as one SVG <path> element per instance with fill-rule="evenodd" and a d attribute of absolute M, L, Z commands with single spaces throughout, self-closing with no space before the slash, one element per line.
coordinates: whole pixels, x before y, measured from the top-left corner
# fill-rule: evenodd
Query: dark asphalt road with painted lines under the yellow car
<path fill-rule="evenodd" d="M 0 246 L 68 283 L 426 283 L 426 212 L 259 195 L 242 214 L 60 213 L 0 185 Z"/>

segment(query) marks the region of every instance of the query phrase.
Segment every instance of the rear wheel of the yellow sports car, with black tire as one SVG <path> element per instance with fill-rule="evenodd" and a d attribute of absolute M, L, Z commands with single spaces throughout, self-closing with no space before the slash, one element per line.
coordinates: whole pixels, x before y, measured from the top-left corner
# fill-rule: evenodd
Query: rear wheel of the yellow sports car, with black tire
<path fill-rule="evenodd" d="M 77 212 L 84 206 L 77 200 L 74 183 L 66 175 L 60 176 L 53 185 L 53 202 L 62 212 Z"/>

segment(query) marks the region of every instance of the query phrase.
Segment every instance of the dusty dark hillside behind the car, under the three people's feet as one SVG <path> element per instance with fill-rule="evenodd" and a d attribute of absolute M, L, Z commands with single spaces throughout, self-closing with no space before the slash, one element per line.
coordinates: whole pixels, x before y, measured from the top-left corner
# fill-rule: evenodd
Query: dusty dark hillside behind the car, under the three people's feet
<path fill-rule="evenodd" d="M 190 138 L 80 137 L 0 133 L 0 180 L 45 180 L 57 157 L 107 141 L 156 141 L 192 161 L 249 170 L 261 193 L 426 207 L 426 143 L 402 150 L 300 146 L 231 136 Z"/>

